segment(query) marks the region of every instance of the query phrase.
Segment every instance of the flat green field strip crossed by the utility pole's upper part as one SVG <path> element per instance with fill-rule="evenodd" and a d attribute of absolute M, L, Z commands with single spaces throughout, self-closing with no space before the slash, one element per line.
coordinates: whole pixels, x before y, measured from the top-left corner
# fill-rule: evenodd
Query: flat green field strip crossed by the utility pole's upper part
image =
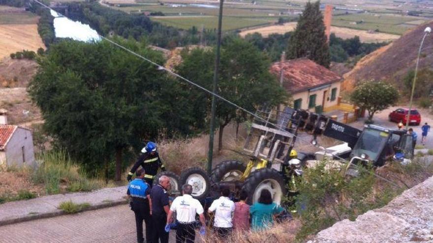
<path fill-rule="evenodd" d="M 173 26 L 183 29 L 188 29 L 192 26 L 201 27 L 203 25 L 205 28 L 214 29 L 218 24 L 218 17 L 216 16 L 203 16 L 203 17 L 164 17 L 155 18 L 152 20 L 159 22 L 167 26 Z M 236 17 L 225 17 L 222 21 L 222 30 L 234 30 L 250 26 L 258 26 L 272 23 L 270 19 L 247 19 L 247 18 L 236 18 Z"/>

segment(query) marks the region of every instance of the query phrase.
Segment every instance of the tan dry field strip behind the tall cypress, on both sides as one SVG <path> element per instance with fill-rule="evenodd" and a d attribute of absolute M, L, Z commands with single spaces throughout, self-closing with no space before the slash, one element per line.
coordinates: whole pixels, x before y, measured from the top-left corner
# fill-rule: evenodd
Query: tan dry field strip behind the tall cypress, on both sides
<path fill-rule="evenodd" d="M 247 34 L 254 32 L 261 33 L 264 37 L 272 33 L 284 34 L 285 32 L 293 31 L 296 28 L 296 22 L 285 23 L 284 25 L 273 25 L 267 27 L 260 27 L 254 29 L 248 29 L 240 32 L 239 34 L 243 37 Z M 400 38 L 400 35 L 386 34 L 386 33 L 369 33 L 367 30 L 359 30 L 345 27 L 331 27 L 331 32 L 335 33 L 338 37 L 343 39 L 353 38 L 355 35 L 359 36 L 362 42 L 382 42 L 392 41 Z"/>

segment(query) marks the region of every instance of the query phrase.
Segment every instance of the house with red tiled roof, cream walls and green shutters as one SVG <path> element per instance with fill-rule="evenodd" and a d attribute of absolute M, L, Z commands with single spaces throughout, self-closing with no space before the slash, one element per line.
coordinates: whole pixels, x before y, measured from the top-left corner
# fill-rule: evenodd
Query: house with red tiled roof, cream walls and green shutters
<path fill-rule="evenodd" d="M 270 71 L 292 95 L 294 108 L 321 113 L 338 106 L 343 78 L 331 70 L 307 58 L 298 58 L 275 62 Z"/>

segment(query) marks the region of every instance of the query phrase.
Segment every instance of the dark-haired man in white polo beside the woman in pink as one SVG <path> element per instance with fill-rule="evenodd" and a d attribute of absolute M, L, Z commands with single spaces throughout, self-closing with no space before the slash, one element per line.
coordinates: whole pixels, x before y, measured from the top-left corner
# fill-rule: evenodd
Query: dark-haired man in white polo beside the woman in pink
<path fill-rule="evenodd" d="M 235 203 L 228 197 L 230 190 L 224 188 L 221 191 L 221 197 L 216 199 L 211 207 L 209 213 L 215 212 L 214 230 L 219 237 L 225 238 L 232 232 L 232 218 L 235 211 Z"/>

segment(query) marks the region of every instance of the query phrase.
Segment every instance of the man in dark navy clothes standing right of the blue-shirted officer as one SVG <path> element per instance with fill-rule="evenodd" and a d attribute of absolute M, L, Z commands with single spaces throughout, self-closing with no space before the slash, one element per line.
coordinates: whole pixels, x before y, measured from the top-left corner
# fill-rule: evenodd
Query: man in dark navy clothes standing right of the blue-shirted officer
<path fill-rule="evenodd" d="M 161 243 L 168 243 L 168 232 L 165 231 L 167 214 L 170 211 L 167 195 L 168 189 L 170 189 L 170 178 L 163 175 L 159 177 L 158 185 L 151 190 L 154 243 L 158 243 L 159 241 Z"/>

